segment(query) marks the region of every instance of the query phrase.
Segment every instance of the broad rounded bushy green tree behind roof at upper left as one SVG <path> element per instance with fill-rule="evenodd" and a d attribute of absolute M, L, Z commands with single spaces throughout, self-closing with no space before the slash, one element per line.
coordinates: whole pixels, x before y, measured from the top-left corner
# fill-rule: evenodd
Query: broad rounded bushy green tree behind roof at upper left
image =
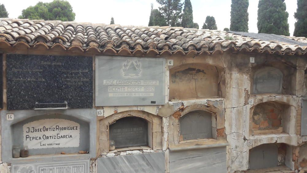
<path fill-rule="evenodd" d="M 61 20 L 73 21 L 76 14 L 68 1 L 54 0 L 52 2 L 38 2 L 35 6 L 29 6 L 22 10 L 20 19 L 30 20 Z"/>

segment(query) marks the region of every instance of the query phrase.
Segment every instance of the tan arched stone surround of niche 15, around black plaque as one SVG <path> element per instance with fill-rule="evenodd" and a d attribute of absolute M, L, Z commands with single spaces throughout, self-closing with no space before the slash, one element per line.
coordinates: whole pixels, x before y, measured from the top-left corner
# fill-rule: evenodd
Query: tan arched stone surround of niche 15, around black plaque
<path fill-rule="evenodd" d="M 134 148 L 135 147 L 150 147 L 153 150 L 162 149 L 162 118 L 157 115 L 153 115 L 149 112 L 145 112 L 145 111 L 125 111 L 125 112 L 119 112 L 119 113 L 115 113 L 113 115 L 107 116 L 106 118 L 103 118 L 102 120 L 99 121 L 99 127 L 100 127 L 99 128 L 100 129 L 99 149 L 100 149 L 100 152 L 108 153 L 110 151 L 109 141 L 111 140 L 113 132 L 120 134 L 124 131 L 123 130 L 124 128 L 125 128 L 125 131 L 129 130 L 129 128 L 131 130 L 132 128 L 132 131 L 131 131 L 132 136 L 139 135 L 139 133 L 135 133 L 135 132 L 140 132 L 138 131 L 139 129 L 137 129 L 137 128 L 140 128 L 140 124 L 137 124 L 137 123 L 131 124 L 131 120 L 142 122 L 142 128 L 146 128 L 146 124 L 147 124 L 147 130 L 142 129 L 141 132 L 143 136 L 147 138 L 148 145 L 145 146 L 146 143 L 144 144 L 126 143 L 126 144 L 118 146 L 119 148 L 122 149 L 122 151 L 132 150 L 131 148 L 129 149 L 129 147 L 134 147 Z M 129 122 L 126 123 L 127 121 L 129 121 L 130 124 Z M 119 128 L 116 128 L 116 127 L 119 127 Z M 136 131 L 133 131 L 133 128 L 136 128 L 135 129 Z M 114 131 L 114 129 L 116 129 L 116 131 Z M 113 132 L 111 132 L 111 130 L 113 130 Z M 144 135 L 145 132 L 148 132 L 147 136 Z M 146 139 L 144 141 L 146 141 Z"/>

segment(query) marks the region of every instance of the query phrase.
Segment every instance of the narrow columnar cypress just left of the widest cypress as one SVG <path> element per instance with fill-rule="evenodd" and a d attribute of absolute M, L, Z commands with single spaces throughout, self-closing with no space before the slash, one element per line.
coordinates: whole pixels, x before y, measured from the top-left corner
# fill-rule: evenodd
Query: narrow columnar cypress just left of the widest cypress
<path fill-rule="evenodd" d="M 248 0 L 231 0 L 230 30 L 248 32 Z"/>

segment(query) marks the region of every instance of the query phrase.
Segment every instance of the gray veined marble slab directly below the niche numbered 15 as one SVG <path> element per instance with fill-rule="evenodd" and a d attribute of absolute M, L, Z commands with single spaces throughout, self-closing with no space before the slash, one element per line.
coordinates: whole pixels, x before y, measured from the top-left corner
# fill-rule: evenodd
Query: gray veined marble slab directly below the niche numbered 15
<path fill-rule="evenodd" d="M 165 153 L 147 153 L 98 158 L 98 172 L 165 173 Z"/>

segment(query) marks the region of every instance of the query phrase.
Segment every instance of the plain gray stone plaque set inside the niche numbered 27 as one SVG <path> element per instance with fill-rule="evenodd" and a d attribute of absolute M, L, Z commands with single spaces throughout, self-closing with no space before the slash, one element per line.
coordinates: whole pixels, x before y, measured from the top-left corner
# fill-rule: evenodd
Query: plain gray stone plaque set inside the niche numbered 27
<path fill-rule="evenodd" d="M 276 144 L 262 144 L 250 150 L 250 169 L 278 166 L 278 147 Z"/>

